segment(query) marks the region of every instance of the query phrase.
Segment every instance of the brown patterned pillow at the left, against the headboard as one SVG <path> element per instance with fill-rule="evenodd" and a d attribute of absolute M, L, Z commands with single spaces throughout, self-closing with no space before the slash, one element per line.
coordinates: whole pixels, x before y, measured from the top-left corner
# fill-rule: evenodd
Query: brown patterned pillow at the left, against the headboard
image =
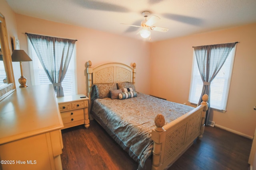
<path fill-rule="evenodd" d="M 98 93 L 98 98 L 110 98 L 110 90 L 117 90 L 116 83 L 109 84 L 96 84 L 96 91 Z"/>

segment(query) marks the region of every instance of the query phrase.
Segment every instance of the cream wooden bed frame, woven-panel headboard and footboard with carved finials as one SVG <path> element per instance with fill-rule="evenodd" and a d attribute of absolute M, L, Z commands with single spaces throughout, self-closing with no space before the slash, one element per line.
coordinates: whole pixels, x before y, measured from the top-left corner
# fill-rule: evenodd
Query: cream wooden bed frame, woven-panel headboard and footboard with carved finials
<path fill-rule="evenodd" d="M 87 62 L 88 96 L 92 84 L 132 82 L 135 84 L 136 64 L 132 67 L 122 63 L 106 63 L 92 68 Z M 152 170 L 164 170 L 170 167 L 192 144 L 196 138 L 202 138 L 204 120 L 208 109 L 208 96 L 205 94 L 200 106 L 164 125 L 164 116 L 155 118 L 156 127 L 152 129 L 154 141 Z"/>

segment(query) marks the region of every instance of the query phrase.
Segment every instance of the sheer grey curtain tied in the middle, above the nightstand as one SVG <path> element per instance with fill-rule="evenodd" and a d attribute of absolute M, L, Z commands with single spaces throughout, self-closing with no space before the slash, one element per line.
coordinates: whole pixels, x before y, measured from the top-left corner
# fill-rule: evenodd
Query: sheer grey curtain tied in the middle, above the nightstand
<path fill-rule="evenodd" d="M 68 70 L 76 40 L 26 33 L 56 96 L 64 96 L 62 80 Z"/>

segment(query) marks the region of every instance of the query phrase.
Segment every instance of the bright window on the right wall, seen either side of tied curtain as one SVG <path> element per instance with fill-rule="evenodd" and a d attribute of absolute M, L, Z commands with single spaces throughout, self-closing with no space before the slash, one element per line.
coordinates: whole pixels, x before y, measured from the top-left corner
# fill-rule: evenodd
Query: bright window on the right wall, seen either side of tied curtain
<path fill-rule="evenodd" d="M 219 110 L 226 110 L 228 100 L 228 91 L 232 75 L 234 63 L 235 48 L 232 49 L 220 72 L 212 80 L 210 85 L 210 107 Z M 195 53 L 193 56 L 192 76 L 190 84 L 190 94 L 188 101 L 193 104 L 198 104 L 202 93 L 203 82 L 200 76 L 198 65 L 196 62 Z"/>

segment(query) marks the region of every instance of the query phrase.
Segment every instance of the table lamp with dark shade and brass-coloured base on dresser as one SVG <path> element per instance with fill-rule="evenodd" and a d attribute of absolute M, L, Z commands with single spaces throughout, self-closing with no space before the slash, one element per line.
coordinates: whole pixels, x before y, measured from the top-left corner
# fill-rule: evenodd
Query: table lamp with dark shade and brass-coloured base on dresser
<path fill-rule="evenodd" d="M 27 53 L 24 50 L 14 50 L 12 51 L 12 61 L 20 62 L 20 72 L 21 72 L 21 76 L 19 78 L 20 87 L 28 87 L 28 85 L 26 84 L 27 79 L 23 76 L 22 61 L 32 61 L 32 59 L 28 57 Z"/>

